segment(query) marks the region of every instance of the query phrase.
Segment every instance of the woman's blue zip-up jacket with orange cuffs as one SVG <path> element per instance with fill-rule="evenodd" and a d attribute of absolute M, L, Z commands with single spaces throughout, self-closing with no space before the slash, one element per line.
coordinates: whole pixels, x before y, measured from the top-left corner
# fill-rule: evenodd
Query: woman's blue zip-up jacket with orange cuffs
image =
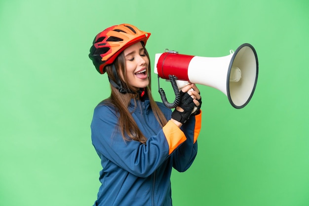
<path fill-rule="evenodd" d="M 184 172 L 196 156 L 201 113 L 181 128 L 172 121 L 162 128 L 148 100 L 134 103 L 131 100 L 129 110 L 148 139 L 146 144 L 123 140 L 113 107 L 102 102 L 94 110 L 91 138 L 103 168 L 94 206 L 171 206 L 172 168 Z M 171 119 L 171 109 L 157 105 Z"/>

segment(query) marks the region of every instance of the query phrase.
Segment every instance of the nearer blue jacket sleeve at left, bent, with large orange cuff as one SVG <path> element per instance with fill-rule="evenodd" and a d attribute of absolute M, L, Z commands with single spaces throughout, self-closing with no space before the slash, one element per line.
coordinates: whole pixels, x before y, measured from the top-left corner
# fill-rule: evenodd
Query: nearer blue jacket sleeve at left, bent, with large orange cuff
<path fill-rule="evenodd" d="M 164 130 L 168 130 L 169 135 L 165 136 Z M 186 141 L 185 134 L 177 126 L 173 127 L 170 124 L 160 129 L 156 135 L 148 137 L 146 144 L 124 141 L 117 129 L 115 111 L 106 105 L 95 108 L 91 123 L 91 138 L 98 153 L 123 170 L 140 177 L 151 175 L 171 151 Z"/>

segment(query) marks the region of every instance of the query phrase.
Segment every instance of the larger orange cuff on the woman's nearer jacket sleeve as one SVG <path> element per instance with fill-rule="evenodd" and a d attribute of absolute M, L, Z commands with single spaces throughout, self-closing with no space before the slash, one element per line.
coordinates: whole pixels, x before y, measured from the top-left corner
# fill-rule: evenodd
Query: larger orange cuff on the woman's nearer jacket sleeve
<path fill-rule="evenodd" d="M 181 129 L 170 120 L 162 130 L 169 146 L 169 154 L 171 154 L 181 143 L 187 140 L 183 131 L 181 131 Z"/>

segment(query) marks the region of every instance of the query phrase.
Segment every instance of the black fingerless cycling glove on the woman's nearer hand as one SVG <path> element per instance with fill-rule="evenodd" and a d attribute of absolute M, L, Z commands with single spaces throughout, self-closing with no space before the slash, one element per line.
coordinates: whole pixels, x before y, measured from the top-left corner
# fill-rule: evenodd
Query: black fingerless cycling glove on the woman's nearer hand
<path fill-rule="evenodd" d="M 180 96 L 181 100 L 178 106 L 184 111 L 175 109 L 172 113 L 172 118 L 184 124 L 189 119 L 195 104 L 193 103 L 193 98 L 187 92 L 180 91 Z"/>

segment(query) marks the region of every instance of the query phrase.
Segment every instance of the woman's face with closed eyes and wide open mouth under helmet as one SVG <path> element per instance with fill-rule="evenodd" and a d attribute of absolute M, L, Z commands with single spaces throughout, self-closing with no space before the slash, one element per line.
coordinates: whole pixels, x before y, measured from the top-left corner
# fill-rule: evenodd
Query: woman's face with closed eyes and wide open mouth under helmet
<path fill-rule="evenodd" d="M 137 42 L 124 51 L 125 72 L 127 84 L 136 90 L 145 88 L 149 84 L 148 66 L 149 59 L 141 42 Z"/>

